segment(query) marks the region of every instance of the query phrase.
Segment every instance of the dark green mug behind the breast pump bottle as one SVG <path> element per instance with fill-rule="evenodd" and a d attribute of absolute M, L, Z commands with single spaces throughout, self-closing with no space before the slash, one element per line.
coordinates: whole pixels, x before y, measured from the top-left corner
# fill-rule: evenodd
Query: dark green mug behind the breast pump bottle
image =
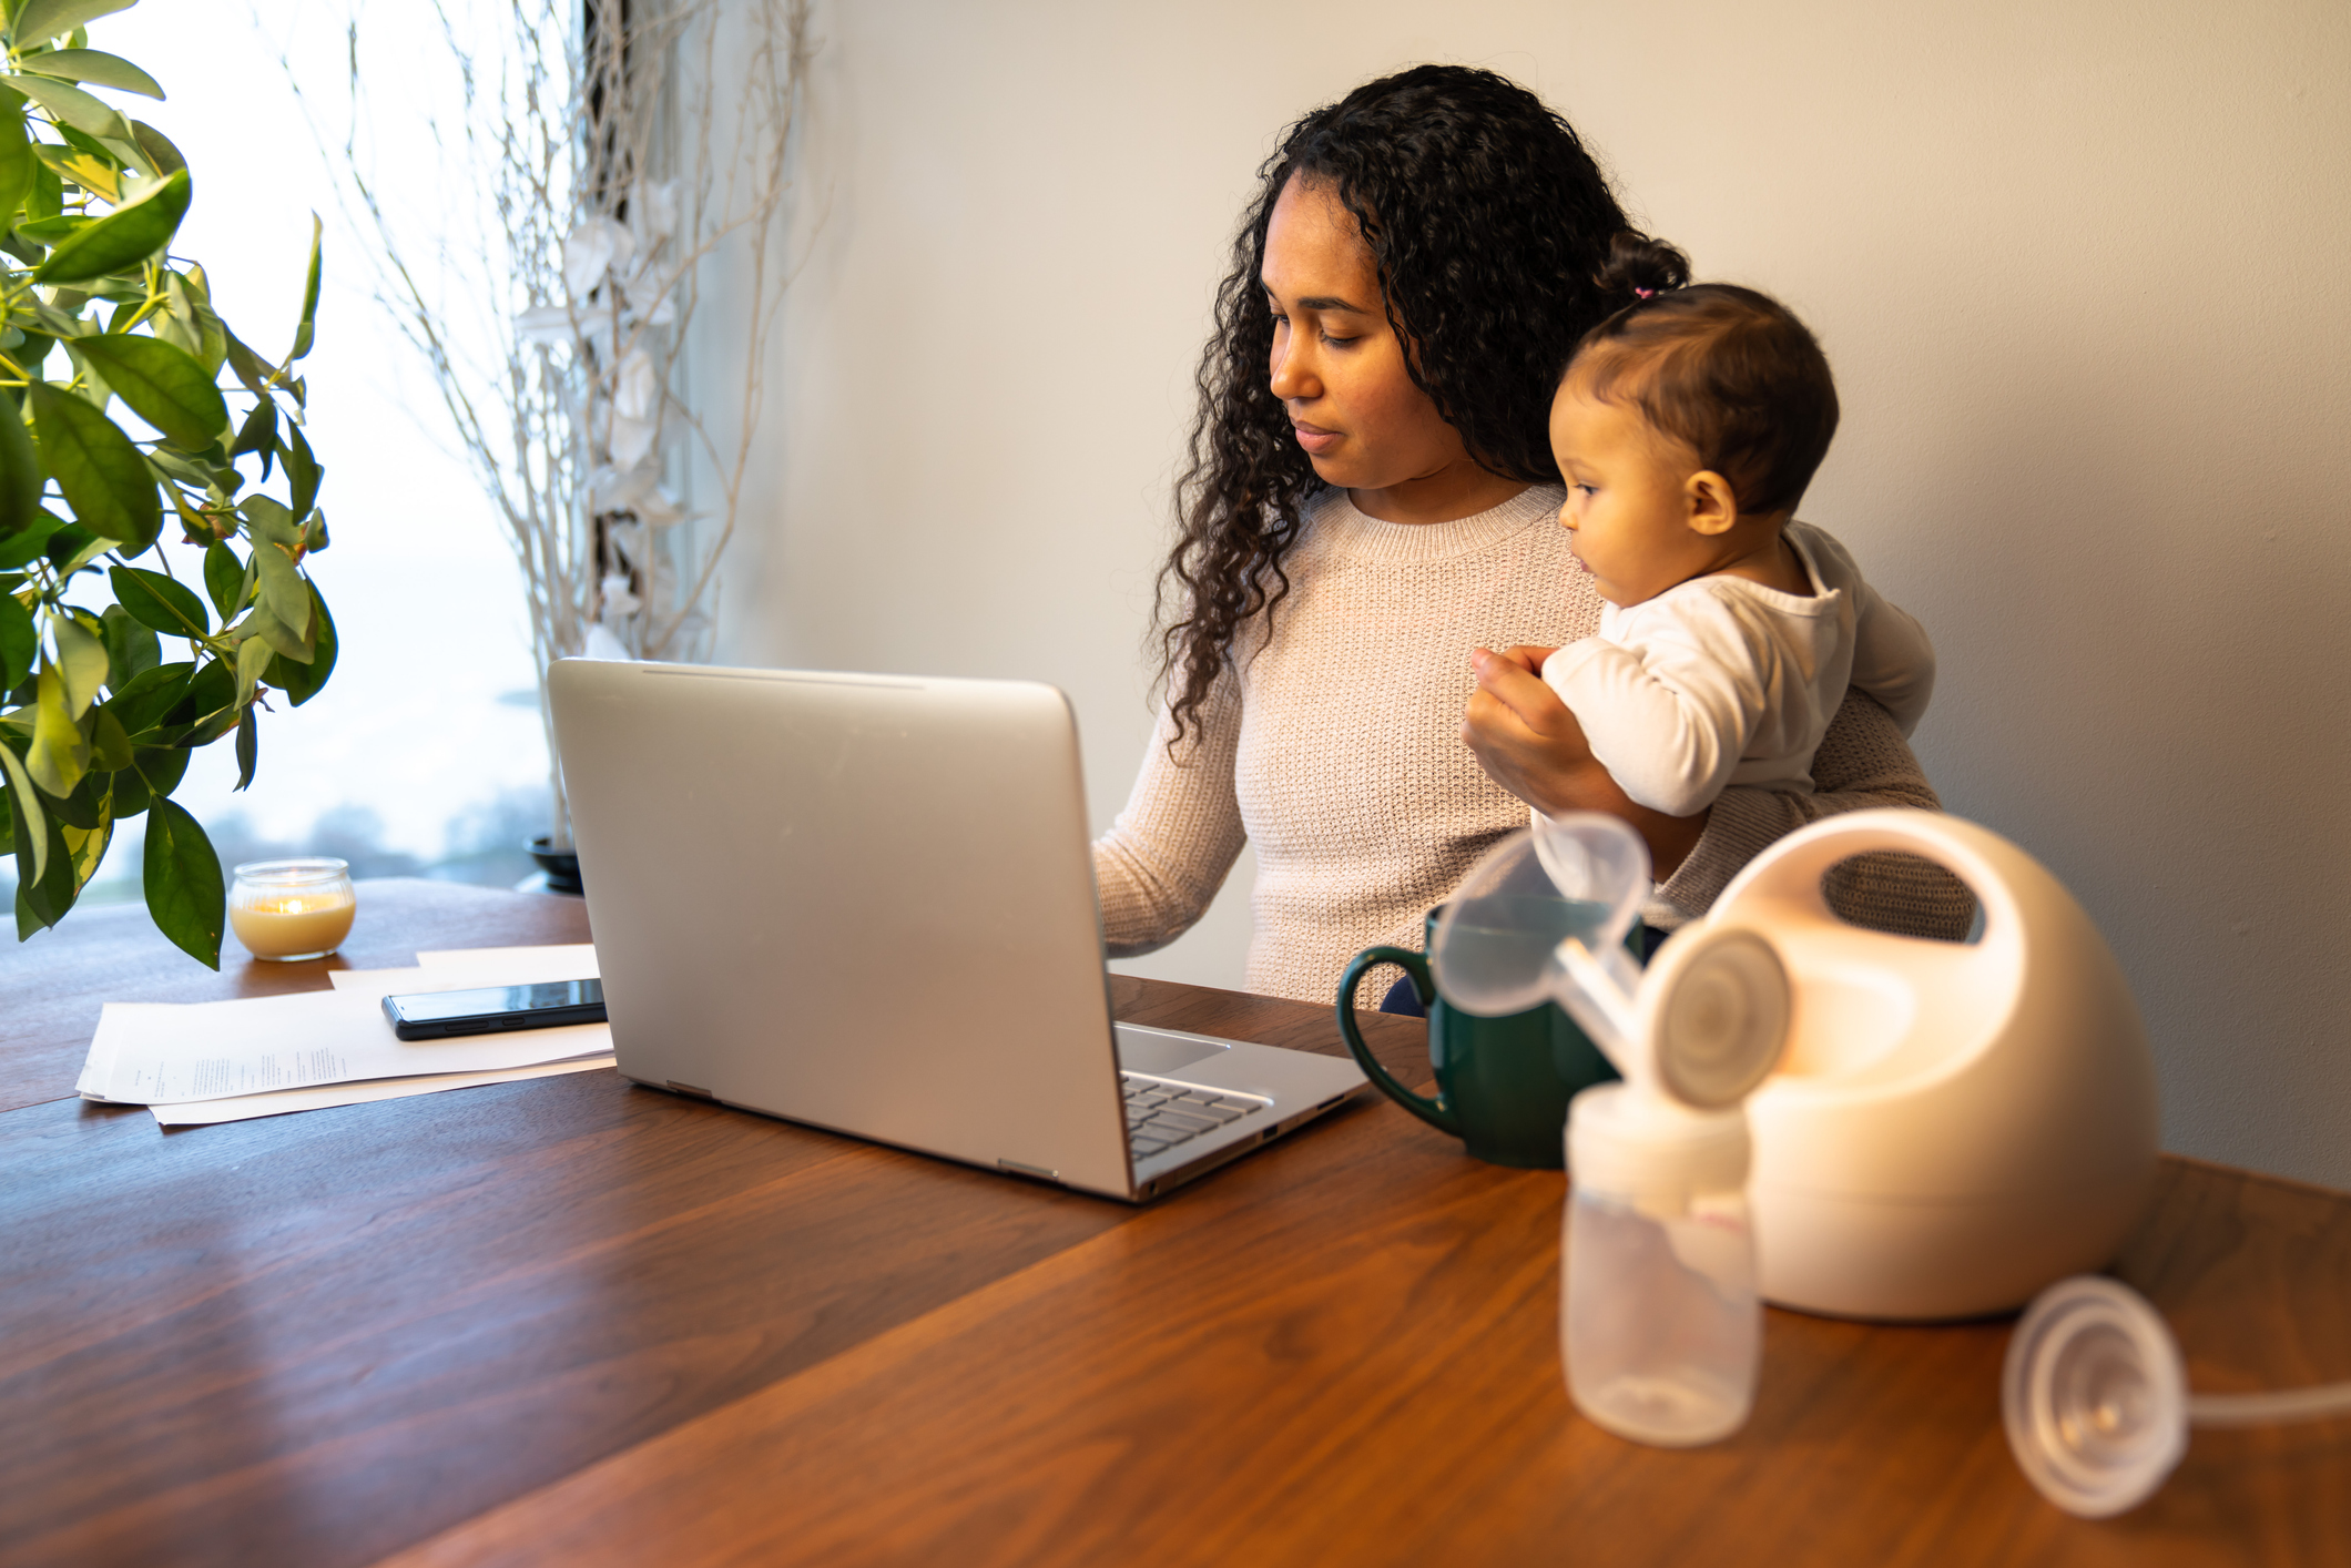
<path fill-rule="evenodd" d="M 1427 940 L 1434 940 L 1441 912 L 1429 910 Z M 1643 957 L 1639 924 L 1625 945 L 1636 959 Z M 1354 1027 L 1354 992 L 1380 964 L 1404 969 L 1420 1006 L 1429 1011 L 1434 1100 L 1399 1084 Z M 1347 961 L 1347 973 L 1338 978 L 1338 1032 L 1380 1093 L 1439 1133 L 1460 1138 L 1472 1159 L 1495 1166 L 1559 1171 L 1566 1164 L 1561 1128 L 1568 1124 L 1568 1100 L 1617 1077 L 1599 1046 L 1556 1004 L 1545 1001 L 1507 1018 L 1462 1013 L 1436 992 L 1427 957 L 1404 947 L 1366 947 Z"/>

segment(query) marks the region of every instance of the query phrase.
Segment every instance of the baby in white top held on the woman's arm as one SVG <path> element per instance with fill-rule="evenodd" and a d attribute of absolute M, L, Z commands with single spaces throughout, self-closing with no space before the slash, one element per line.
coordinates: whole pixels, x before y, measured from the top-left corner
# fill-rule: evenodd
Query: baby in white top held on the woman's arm
<path fill-rule="evenodd" d="M 1559 522 L 1606 607 L 1542 663 L 1592 755 L 1669 816 L 1726 785 L 1813 790 L 1846 686 L 1916 729 L 1935 649 L 1796 501 L 1836 435 L 1836 383 L 1777 301 L 1688 282 L 1681 252 L 1620 235 L 1594 327 L 1552 400 Z"/>

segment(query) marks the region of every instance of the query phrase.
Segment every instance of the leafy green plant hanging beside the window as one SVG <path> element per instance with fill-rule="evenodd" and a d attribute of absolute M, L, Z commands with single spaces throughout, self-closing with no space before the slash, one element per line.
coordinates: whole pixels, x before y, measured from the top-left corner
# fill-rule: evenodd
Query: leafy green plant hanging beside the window
<path fill-rule="evenodd" d="M 26 940 L 146 816 L 148 912 L 219 969 L 221 863 L 172 790 L 230 736 L 249 785 L 259 715 L 310 701 L 336 658 L 296 374 L 320 247 L 313 219 L 287 355 L 249 348 L 172 252 L 188 160 L 118 106 L 162 87 L 89 47 L 129 5 L 0 0 L 0 849 Z"/>

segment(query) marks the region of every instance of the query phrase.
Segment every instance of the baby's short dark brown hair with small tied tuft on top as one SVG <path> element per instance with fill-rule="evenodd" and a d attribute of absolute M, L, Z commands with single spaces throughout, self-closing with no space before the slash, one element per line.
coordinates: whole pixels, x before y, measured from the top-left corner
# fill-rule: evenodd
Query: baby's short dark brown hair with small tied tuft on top
<path fill-rule="evenodd" d="M 1601 289 L 1625 308 L 1585 334 L 1563 381 L 1629 402 L 1730 480 L 1740 512 L 1791 512 L 1836 435 L 1836 381 L 1787 306 L 1728 282 L 1690 284 L 1672 244 L 1620 233 Z"/>

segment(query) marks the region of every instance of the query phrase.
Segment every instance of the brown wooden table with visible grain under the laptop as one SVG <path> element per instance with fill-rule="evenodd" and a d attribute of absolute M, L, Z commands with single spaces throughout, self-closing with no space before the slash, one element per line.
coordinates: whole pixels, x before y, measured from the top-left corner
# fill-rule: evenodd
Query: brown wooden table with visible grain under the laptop
<path fill-rule="evenodd" d="M 343 961 L 585 936 L 362 886 Z M 1559 1380 L 1561 1178 L 1380 1103 L 1133 1211 L 585 1072 L 158 1131 L 68 1098 L 139 910 L 0 957 L 0 1561 L 2316 1563 L 2351 1422 L 2198 1434 L 2111 1523 L 2008 1458 L 2008 1324 L 1773 1312 L 1754 1420 L 1622 1443 Z M 1326 1009 L 1117 1011 L 1338 1051 Z M 1420 1025 L 1368 1034 L 1425 1081 Z M 2191 1382 L 2351 1375 L 2351 1199 L 2168 1159 L 2118 1272 Z"/>

